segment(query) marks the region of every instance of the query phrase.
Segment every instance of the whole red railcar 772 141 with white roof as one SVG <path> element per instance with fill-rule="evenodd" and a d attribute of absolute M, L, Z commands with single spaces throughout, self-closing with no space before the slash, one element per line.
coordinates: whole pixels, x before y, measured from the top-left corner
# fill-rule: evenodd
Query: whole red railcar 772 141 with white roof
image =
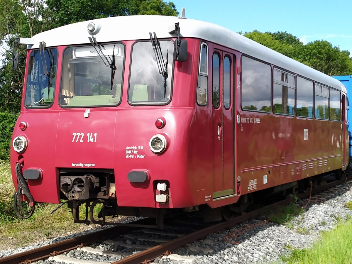
<path fill-rule="evenodd" d="M 345 87 L 223 27 L 112 17 L 20 42 L 11 166 L 31 205 L 228 217 L 348 165 Z"/>

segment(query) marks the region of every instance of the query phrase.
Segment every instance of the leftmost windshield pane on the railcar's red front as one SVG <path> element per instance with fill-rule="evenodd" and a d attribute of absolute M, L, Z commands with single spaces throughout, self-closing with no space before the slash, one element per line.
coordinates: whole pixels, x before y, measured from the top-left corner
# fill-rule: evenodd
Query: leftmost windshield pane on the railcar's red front
<path fill-rule="evenodd" d="M 26 108 L 50 107 L 53 101 L 57 68 L 57 50 L 33 50 L 29 55 Z"/>

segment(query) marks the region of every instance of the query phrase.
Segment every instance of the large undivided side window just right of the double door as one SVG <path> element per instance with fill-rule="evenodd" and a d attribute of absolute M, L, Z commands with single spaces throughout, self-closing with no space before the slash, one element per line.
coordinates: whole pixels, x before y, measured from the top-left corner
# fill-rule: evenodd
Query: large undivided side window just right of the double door
<path fill-rule="evenodd" d="M 244 110 L 271 111 L 271 67 L 242 57 L 241 106 Z"/>

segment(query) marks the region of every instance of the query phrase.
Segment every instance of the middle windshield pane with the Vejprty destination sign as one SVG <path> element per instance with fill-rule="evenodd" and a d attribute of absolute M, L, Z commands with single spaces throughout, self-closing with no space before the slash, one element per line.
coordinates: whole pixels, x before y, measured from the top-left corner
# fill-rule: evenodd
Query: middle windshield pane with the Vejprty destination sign
<path fill-rule="evenodd" d="M 115 47 L 115 48 L 114 48 Z M 111 63 L 114 54 L 116 71 L 111 87 L 111 68 L 102 61 L 93 46 L 65 49 L 63 55 L 61 93 L 62 107 L 116 106 L 121 101 L 121 80 L 125 47 L 122 44 L 101 45 Z"/>

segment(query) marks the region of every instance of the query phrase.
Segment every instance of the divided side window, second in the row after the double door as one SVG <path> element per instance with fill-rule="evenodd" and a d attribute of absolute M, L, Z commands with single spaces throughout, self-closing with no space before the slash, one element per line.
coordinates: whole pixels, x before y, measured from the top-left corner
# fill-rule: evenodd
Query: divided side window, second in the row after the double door
<path fill-rule="evenodd" d="M 275 114 L 295 114 L 295 76 L 274 69 L 273 103 Z"/>

